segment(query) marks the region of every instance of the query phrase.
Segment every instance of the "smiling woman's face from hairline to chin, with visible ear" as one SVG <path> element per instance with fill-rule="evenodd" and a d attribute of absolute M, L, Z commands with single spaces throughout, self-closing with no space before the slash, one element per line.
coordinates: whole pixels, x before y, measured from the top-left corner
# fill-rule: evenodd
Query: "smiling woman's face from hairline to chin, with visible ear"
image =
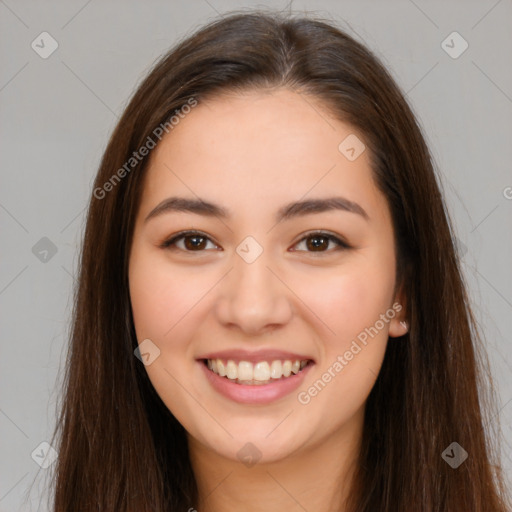
<path fill-rule="evenodd" d="M 405 332 L 361 141 L 280 89 L 199 104 L 153 150 L 134 323 L 152 384 L 203 450 L 270 462 L 357 439 L 388 336 Z"/>

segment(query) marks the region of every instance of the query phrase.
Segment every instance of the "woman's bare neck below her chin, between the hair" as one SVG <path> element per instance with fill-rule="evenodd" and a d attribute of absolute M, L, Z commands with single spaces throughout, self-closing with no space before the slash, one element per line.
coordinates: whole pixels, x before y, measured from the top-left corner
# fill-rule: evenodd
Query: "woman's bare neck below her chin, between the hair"
<path fill-rule="evenodd" d="M 344 512 L 360 448 L 362 411 L 345 427 L 285 459 L 251 467 L 188 436 L 197 512 Z"/>

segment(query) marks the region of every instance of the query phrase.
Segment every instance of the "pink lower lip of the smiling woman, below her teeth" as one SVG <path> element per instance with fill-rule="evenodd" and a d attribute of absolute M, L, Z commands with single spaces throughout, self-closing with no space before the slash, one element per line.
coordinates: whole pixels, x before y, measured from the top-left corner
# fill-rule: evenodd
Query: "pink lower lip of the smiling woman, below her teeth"
<path fill-rule="evenodd" d="M 221 377 L 208 369 L 204 362 L 198 361 L 205 372 L 208 382 L 221 395 L 241 404 L 268 404 L 290 394 L 303 382 L 304 377 L 313 366 L 309 363 L 299 373 L 290 375 L 284 379 L 270 382 L 269 384 L 237 384 L 226 377 Z"/>

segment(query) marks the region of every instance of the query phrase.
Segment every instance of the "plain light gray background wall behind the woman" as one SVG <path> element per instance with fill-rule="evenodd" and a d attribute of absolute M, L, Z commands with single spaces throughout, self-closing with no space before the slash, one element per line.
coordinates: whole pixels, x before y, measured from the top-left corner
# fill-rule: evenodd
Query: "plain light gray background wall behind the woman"
<path fill-rule="evenodd" d="M 289 7 L 0 0 L 0 511 L 46 510 L 49 470 L 31 453 L 41 453 L 53 429 L 84 209 L 117 118 L 178 38 L 217 14 L 261 5 Z M 291 8 L 332 19 L 376 52 L 424 128 L 486 337 L 510 478 L 512 2 L 295 1 Z M 44 31 L 59 45 L 47 59 L 31 47 Z M 453 31 L 469 44 L 458 58 L 442 47 Z M 55 254 L 41 252 L 52 244 Z"/>

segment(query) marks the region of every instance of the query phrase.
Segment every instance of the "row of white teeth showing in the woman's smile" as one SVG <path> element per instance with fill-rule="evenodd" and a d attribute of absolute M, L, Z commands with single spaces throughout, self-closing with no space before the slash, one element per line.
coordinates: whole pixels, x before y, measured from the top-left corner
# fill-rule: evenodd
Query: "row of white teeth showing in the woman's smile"
<path fill-rule="evenodd" d="M 267 361 L 260 361 L 253 364 L 249 361 L 240 361 L 238 364 L 229 359 L 226 364 L 221 359 L 208 359 L 208 368 L 230 380 L 243 382 L 247 384 L 259 383 L 265 384 L 271 379 L 280 379 L 289 377 L 291 374 L 297 374 L 308 364 L 308 360 L 285 361 L 275 360 L 270 364 Z"/>

